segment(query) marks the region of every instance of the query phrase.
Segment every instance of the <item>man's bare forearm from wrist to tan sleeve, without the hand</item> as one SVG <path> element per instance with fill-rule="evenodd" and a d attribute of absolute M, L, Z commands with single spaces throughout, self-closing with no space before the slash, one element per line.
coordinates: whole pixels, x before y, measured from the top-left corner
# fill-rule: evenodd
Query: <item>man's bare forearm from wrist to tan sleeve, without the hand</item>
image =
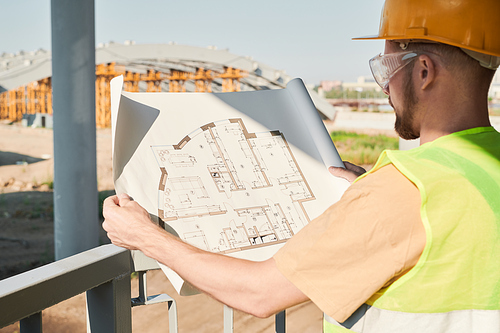
<path fill-rule="evenodd" d="M 279 272 L 272 258 L 254 262 L 210 253 L 163 231 L 155 233 L 142 250 L 200 291 L 257 317 L 308 300 Z"/>

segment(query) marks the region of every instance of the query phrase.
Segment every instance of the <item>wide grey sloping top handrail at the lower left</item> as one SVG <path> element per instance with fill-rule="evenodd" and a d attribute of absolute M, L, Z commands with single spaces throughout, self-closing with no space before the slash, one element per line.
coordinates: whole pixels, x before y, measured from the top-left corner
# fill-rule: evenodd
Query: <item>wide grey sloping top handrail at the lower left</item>
<path fill-rule="evenodd" d="M 129 275 L 130 261 L 128 250 L 102 245 L 0 281 L 0 327 Z"/>

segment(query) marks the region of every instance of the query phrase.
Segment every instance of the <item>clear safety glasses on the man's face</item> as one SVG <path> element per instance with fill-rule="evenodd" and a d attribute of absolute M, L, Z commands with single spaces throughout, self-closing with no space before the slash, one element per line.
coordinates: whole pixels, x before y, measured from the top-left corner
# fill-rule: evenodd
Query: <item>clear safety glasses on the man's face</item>
<path fill-rule="evenodd" d="M 399 52 L 390 54 L 379 54 L 370 59 L 370 69 L 377 84 L 385 92 L 389 80 L 401 68 L 405 67 L 418 56 L 417 52 Z"/>

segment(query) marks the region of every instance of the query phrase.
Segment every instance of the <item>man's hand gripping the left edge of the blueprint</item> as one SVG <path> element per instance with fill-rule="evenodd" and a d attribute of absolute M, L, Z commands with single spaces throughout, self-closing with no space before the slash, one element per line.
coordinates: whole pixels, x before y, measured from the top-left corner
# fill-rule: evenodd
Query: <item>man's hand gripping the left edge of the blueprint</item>
<path fill-rule="evenodd" d="M 117 246 L 140 250 L 151 235 L 161 231 L 149 218 L 148 212 L 127 194 L 108 197 L 103 204 L 102 227 Z"/>

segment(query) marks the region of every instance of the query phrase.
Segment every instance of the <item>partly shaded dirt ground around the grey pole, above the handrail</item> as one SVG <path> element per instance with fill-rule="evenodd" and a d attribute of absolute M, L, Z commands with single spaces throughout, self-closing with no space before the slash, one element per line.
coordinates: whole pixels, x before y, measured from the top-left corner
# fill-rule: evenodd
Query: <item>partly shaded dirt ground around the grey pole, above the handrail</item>
<path fill-rule="evenodd" d="M 98 130 L 97 146 L 105 195 L 113 190 L 109 129 Z M 52 130 L 0 124 L 0 279 L 53 260 L 53 162 Z"/>

